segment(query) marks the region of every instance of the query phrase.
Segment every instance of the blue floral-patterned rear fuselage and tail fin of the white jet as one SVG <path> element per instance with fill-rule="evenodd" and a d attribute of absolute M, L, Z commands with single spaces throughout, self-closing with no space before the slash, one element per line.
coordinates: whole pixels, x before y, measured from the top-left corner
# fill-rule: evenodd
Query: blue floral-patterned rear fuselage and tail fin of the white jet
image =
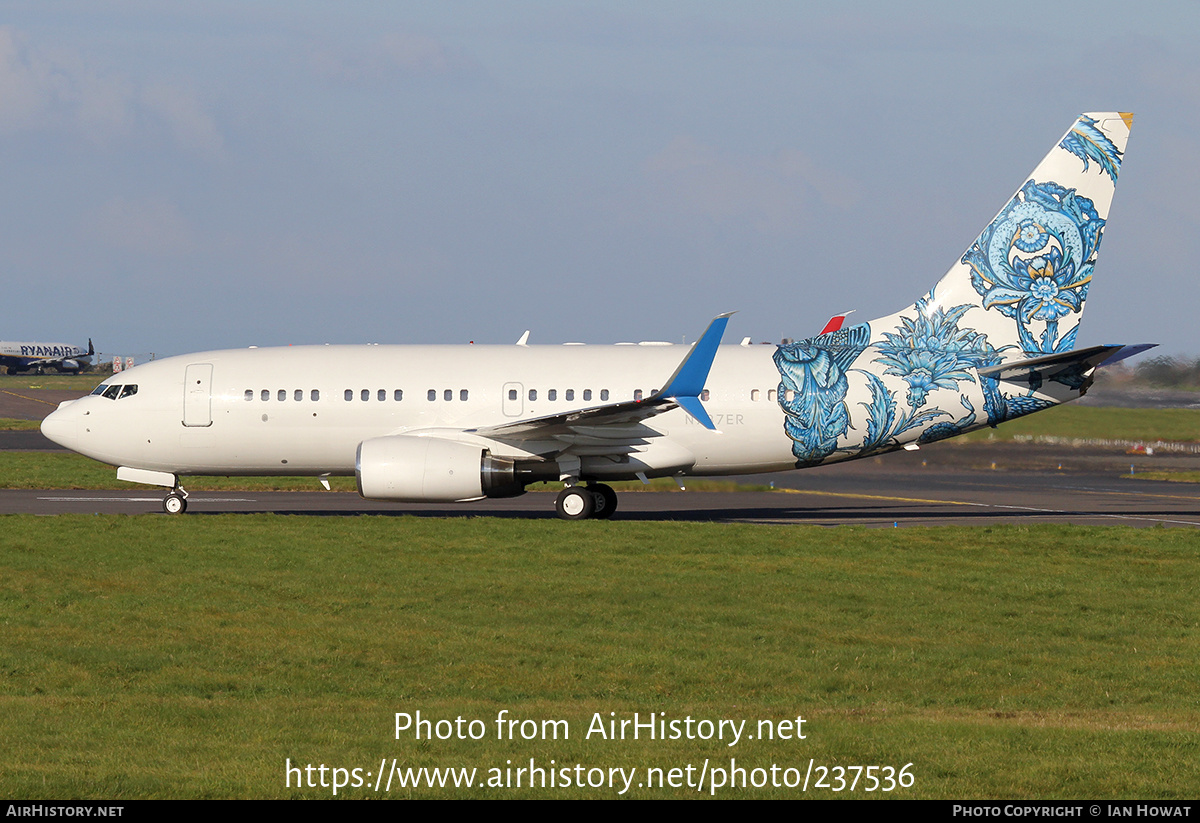
<path fill-rule="evenodd" d="M 1079 323 L 1132 121 L 1078 118 L 920 300 L 776 350 L 798 467 L 934 443 L 1087 390 L 1103 353 L 1075 349 Z"/>

